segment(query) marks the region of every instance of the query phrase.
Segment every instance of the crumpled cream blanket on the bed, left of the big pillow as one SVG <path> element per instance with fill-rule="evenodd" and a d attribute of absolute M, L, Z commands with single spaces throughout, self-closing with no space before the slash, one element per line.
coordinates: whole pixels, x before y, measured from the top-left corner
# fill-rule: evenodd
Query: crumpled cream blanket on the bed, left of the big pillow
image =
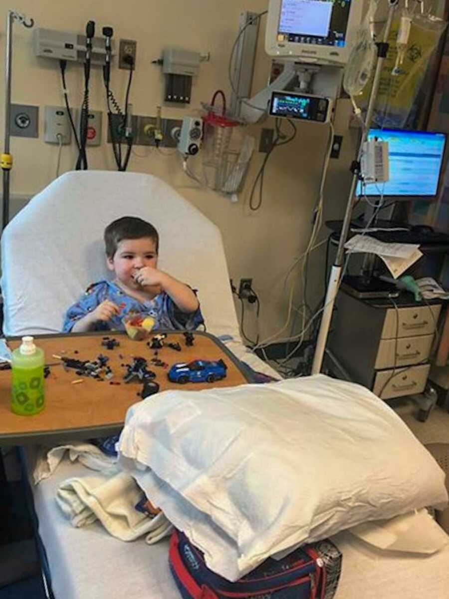
<path fill-rule="evenodd" d="M 156 543 L 172 531 L 172 525 L 160 512 L 154 518 L 138 512 L 135 505 L 142 491 L 129 474 L 113 477 L 104 474 L 75 477 L 63 481 L 56 501 L 73 527 L 92 524 L 97 519 L 116 539 L 134 541 L 146 535 L 148 544 Z"/>

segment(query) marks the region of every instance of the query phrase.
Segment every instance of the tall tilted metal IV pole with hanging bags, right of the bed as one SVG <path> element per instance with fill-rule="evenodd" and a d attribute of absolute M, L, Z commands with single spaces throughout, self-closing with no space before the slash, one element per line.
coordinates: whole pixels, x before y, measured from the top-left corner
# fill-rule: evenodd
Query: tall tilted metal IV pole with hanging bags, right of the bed
<path fill-rule="evenodd" d="M 383 69 L 384 61 L 387 58 L 389 50 L 388 38 L 392 28 L 393 14 L 398 5 L 399 0 L 388 0 L 389 13 L 387 23 L 384 30 L 383 41 L 377 44 L 377 65 L 372 83 L 371 94 L 369 96 L 368 110 L 365 118 L 365 128 L 363 129 L 362 139 L 360 140 L 359 151 L 357 153 L 357 163 L 360 163 L 363 153 L 363 144 L 368 138 L 369 128 L 371 126 L 372 117 L 374 114 L 374 106 L 377 98 L 377 92 L 380 86 L 380 77 Z M 351 216 L 354 207 L 354 196 L 358 180 L 357 169 L 354 169 L 353 181 L 349 192 L 348 203 L 346 205 L 345 217 L 341 229 L 340 239 L 338 242 L 338 250 L 335 256 L 335 263 L 330 271 L 329 283 L 327 283 L 326 299 L 324 300 L 323 316 L 321 318 L 320 331 L 318 333 L 317 347 L 312 365 L 312 374 L 319 374 L 323 365 L 324 351 L 326 349 L 327 336 L 329 335 L 330 320 L 332 319 L 333 306 L 335 304 L 336 295 L 341 280 L 342 268 L 344 264 L 344 246 L 348 237 L 348 232 L 351 223 Z"/>

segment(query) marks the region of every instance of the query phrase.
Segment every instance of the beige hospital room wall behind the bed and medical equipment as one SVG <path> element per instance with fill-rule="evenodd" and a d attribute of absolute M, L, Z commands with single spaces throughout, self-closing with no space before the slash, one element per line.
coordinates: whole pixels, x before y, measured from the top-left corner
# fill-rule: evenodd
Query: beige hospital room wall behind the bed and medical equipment
<path fill-rule="evenodd" d="M 201 108 L 201 101 L 209 101 L 218 88 L 229 94 L 227 62 L 235 40 L 239 13 L 241 10 L 262 11 L 266 4 L 266 0 L 247 0 L 244 3 L 237 0 L 16 0 L 14 8 L 32 16 L 35 24 L 44 28 L 83 32 L 87 20 L 92 19 L 96 22 L 97 32 L 101 32 L 102 26 L 111 25 L 116 40 L 137 40 L 137 65 L 131 93 L 136 114 L 154 116 L 156 105 L 162 101 L 161 69 L 151 65 L 151 60 L 159 58 L 163 47 L 174 45 L 210 52 L 210 62 L 201 65 L 199 76 L 194 79 L 192 105 L 188 108 L 162 105 L 163 117 L 180 118 Z M 4 27 L 4 18 L 1 19 L 1 26 Z M 3 56 L 4 29 L 0 29 L 0 34 Z M 254 90 L 260 89 L 268 76 L 269 60 L 263 51 L 264 34 L 265 20 L 259 37 Z M 35 58 L 31 39 L 30 30 L 14 26 L 13 102 L 40 106 L 40 137 L 36 140 L 11 138 L 14 155 L 11 193 L 18 195 L 38 192 L 54 177 L 57 148 L 43 142 L 43 113 L 45 105 L 63 103 L 57 62 Z M 81 102 L 82 72 L 80 65 L 68 64 L 66 77 L 69 97 L 75 106 Z M 111 75 L 111 86 L 122 102 L 127 75 L 127 71 L 119 71 L 115 67 Z M 0 97 L 3 95 L 3 74 L 1 76 Z M 91 80 L 90 106 L 102 110 L 105 117 L 104 87 L 98 67 L 93 68 Z M 344 119 L 342 122 L 345 122 Z M 267 123 L 265 126 L 273 126 L 273 123 Z M 339 126 L 339 129 L 342 127 L 344 129 L 344 125 Z M 259 129 L 260 126 L 250 129 L 256 135 L 257 144 Z M 348 165 L 353 157 L 353 139 L 347 131 L 340 132 L 345 134 L 342 156 L 338 161 L 331 162 L 326 185 L 328 217 L 341 216 L 350 180 Z M 129 170 L 151 173 L 174 185 L 219 226 L 230 275 L 235 282 L 241 277 L 252 277 L 254 288 L 259 293 L 262 338 L 275 332 L 286 317 L 283 274 L 293 258 L 305 249 L 310 235 L 310 214 L 320 183 L 327 135 L 325 126 L 302 124 L 298 126 L 298 136 L 293 143 L 275 150 L 266 170 L 263 207 L 255 214 L 248 210 L 247 200 L 254 174 L 263 158 L 258 153 L 254 156 L 245 189 L 237 204 L 231 204 L 227 198 L 211 190 L 199 189 L 194 181 L 182 173 L 177 155 L 162 156 L 155 150 L 148 152 L 147 147 L 138 146 L 129 164 Z M 63 147 L 62 171 L 71 170 L 74 161 L 74 147 Z M 201 158 L 196 158 L 196 161 L 195 167 L 195 161 L 192 160 L 193 170 L 198 168 Z M 104 143 L 101 147 L 89 149 L 89 165 L 94 169 L 112 169 L 111 146 Z M 309 280 L 312 304 L 318 301 L 318 295 L 322 293 L 323 256 L 322 249 L 318 250 L 311 262 Z M 298 285 L 298 291 L 299 288 Z M 247 313 L 247 332 L 254 335 L 254 326 L 254 307 L 251 307 Z"/>

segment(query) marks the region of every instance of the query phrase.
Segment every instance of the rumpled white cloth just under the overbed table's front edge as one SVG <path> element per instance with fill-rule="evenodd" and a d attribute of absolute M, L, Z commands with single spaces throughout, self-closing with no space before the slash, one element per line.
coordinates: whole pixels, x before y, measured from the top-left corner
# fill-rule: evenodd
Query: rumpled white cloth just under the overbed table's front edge
<path fill-rule="evenodd" d="M 40 447 L 33 470 L 35 485 L 38 485 L 41 480 L 48 479 L 53 474 L 67 451 L 72 462 L 78 459 L 81 464 L 90 468 L 90 470 L 98 470 L 109 475 L 119 472 L 119 469 L 116 467 L 116 458 L 105 455 L 101 449 L 92 443 L 72 441 L 72 443 L 52 447 L 51 449 Z"/>

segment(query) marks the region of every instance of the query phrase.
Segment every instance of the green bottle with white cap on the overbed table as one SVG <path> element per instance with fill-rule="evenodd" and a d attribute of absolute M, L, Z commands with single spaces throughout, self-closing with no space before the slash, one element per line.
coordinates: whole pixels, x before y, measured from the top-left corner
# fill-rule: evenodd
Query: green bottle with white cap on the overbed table
<path fill-rule="evenodd" d="M 22 337 L 22 345 L 14 350 L 11 361 L 14 413 L 32 416 L 44 409 L 44 364 L 44 352 L 35 346 L 33 337 Z"/>

